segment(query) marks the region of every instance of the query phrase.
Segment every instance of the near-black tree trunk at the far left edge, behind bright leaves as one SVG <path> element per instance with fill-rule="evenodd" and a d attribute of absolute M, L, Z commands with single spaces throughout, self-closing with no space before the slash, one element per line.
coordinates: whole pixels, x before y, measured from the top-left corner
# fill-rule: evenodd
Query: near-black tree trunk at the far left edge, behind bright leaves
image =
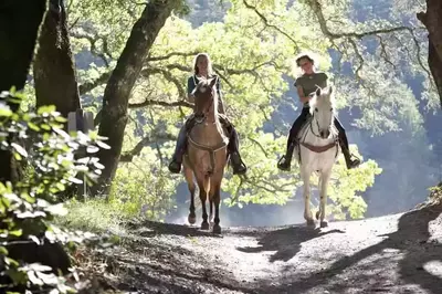
<path fill-rule="evenodd" d="M 0 91 L 24 87 L 45 10 L 45 0 L 0 1 Z M 19 106 L 10 104 L 12 111 Z M 0 181 L 17 180 L 10 151 L 0 150 Z"/>

